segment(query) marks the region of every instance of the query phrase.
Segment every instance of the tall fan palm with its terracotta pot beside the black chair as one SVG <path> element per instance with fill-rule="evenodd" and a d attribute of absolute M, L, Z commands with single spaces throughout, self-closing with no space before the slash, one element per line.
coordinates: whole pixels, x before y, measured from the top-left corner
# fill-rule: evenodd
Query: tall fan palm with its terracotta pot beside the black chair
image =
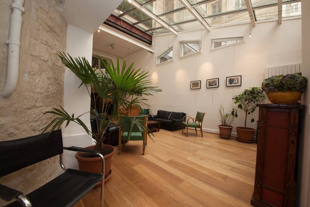
<path fill-rule="evenodd" d="M 89 62 L 82 58 L 72 58 L 69 54 L 68 56 L 65 53 L 58 52 L 57 55 L 60 57 L 62 63 L 69 68 L 78 78 L 81 80 L 80 87 L 84 85 L 90 85 L 92 91 L 96 91 L 98 96 L 103 99 L 102 107 L 96 106 L 96 98 L 92 97 L 91 92 L 88 91 L 93 106 L 95 110 L 101 108 L 100 114 L 96 115 L 97 121 L 97 132 L 93 133 L 89 130 L 86 125 L 82 122 L 80 117 L 90 111 L 74 116 L 69 115 L 62 107 L 53 108 L 52 111 L 47 111 L 44 114 L 54 114 L 56 118 L 53 119 L 50 123 L 42 126 L 42 133 L 49 130 L 60 128 L 61 125 L 65 122 L 67 127 L 70 122 L 77 123 L 81 125 L 87 134 L 92 135 L 95 139 L 95 146 L 88 146 L 86 148 L 95 149 L 101 152 L 105 158 L 105 181 L 111 176 L 111 164 L 112 156 L 115 152 L 113 146 L 103 145 L 103 141 L 106 137 L 109 136 L 107 132 L 108 126 L 117 120 L 118 115 L 120 114 L 120 107 L 130 107 L 137 106 L 140 104 L 149 106 L 145 97 L 152 96 L 153 93 L 160 92 L 160 89 L 157 89 L 157 86 L 153 86 L 153 81 L 148 79 L 148 72 L 140 71 L 141 69 L 133 69 L 133 63 L 127 67 L 126 62 L 123 62 L 123 65 L 120 66 L 119 60 L 117 59 L 117 65 L 114 65 L 111 61 L 111 65 L 108 65 L 108 61 L 103 61 L 102 58 L 98 55 L 101 63 L 105 66 L 106 71 L 99 69 L 93 69 Z M 87 87 L 86 87 L 87 88 Z M 87 89 L 88 90 L 88 89 Z M 135 96 L 137 93 L 142 93 L 144 96 Z M 109 101 L 106 101 L 109 100 Z M 112 101 L 111 101 L 112 100 Z M 108 103 L 109 106 L 104 106 L 105 103 Z M 112 112 L 110 117 L 107 117 L 107 110 L 112 107 Z M 121 124 L 118 122 L 117 126 Z M 141 131 L 146 130 L 147 135 L 151 133 L 144 123 L 135 119 L 126 120 L 126 124 L 138 125 Z M 111 132 L 110 132 L 111 133 Z M 101 173 L 101 159 L 97 155 L 89 155 L 86 153 L 78 152 L 76 154 L 78 160 L 79 169 L 83 171 L 89 171 L 94 173 Z M 99 186 L 100 183 L 97 185 Z"/>

